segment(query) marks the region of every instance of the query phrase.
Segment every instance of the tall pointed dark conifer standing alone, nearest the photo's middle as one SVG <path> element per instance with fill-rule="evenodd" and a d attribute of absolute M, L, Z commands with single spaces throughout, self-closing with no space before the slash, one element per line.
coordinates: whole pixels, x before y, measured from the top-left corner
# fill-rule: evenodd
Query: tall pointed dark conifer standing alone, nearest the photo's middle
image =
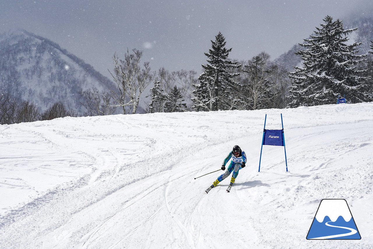
<path fill-rule="evenodd" d="M 228 72 L 229 68 L 239 67 L 238 62 L 228 59 L 232 48 L 226 49 L 225 37 L 219 32 L 212 41 L 209 53 L 204 53 L 209 59 L 207 64 L 202 65 L 203 73 L 198 77 L 199 84 L 194 84 L 193 94 L 195 103 L 193 109 L 196 111 L 217 111 L 234 108 L 235 98 L 232 90 L 238 87 L 232 78 L 237 74 Z M 233 103 L 233 104 L 232 104 Z"/>

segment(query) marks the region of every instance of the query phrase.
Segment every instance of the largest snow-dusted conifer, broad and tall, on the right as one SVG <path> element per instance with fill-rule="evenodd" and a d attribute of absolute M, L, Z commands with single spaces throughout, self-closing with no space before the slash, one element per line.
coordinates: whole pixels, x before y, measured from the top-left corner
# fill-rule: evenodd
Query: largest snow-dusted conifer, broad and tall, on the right
<path fill-rule="evenodd" d="M 357 55 L 360 43 L 346 44 L 348 34 L 357 28 L 345 30 L 342 21 L 333 21 L 331 16 L 323 21 L 325 24 L 300 44 L 305 50 L 295 52 L 303 59 L 303 66 L 295 66 L 289 75 L 293 84 L 288 107 L 332 104 L 344 94 L 350 103 L 371 101 L 367 78 L 359 76 L 362 71 L 357 69 L 366 55 Z"/>

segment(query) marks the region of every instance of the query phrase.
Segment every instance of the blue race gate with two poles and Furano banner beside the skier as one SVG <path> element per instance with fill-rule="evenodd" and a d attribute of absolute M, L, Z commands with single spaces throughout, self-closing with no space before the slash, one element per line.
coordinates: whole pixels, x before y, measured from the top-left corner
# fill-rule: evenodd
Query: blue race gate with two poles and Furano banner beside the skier
<path fill-rule="evenodd" d="M 282 113 L 281 113 L 282 130 L 266 130 L 266 121 L 267 121 L 267 114 L 266 114 L 266 118 L 264 119 L 263 140 L 261 142 L 258 172 L 260 172 L 260 161 L 261 161 L 261 152 L 263 151 L 263 145 L 283 146 L 283 149 L 285 150 L 286 172 L 288 172 L 288 161 L 286 160 L 285 137 L 283 136 Z"/>

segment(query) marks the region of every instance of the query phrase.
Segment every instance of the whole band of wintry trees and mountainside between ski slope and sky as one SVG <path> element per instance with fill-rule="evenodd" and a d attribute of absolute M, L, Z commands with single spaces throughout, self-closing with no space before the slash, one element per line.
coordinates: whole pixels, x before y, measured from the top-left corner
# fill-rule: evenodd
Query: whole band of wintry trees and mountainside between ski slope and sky
<path fill-rule="evenodd" d="M 205 52 L 201 74 L 184 69 L 153 71 L 150 62 L 142 61 L 143 51 L 132 49 L 113 55 L 110 80 L 48 39 L 27 31 L 3 34 L 0 123 L 314 106 L 335 103 L 339 96 L 345 96 L 347 103 L 372 101 L 370 36 L 359 28 L 345 29 L 331 16 L 322 21 L 291 50 L 295 57 L 286 54 L 272 61 L 261 52 L 248 60 L 233 60 L 229 53 L 234 48 L 226 47 L 219 32 Z M 350 40 L 352 33 L 357 41 Z M 290 58 L 287 65 L 284 58 Z M 289 63 L 297 63 L 291 71 Z"/>

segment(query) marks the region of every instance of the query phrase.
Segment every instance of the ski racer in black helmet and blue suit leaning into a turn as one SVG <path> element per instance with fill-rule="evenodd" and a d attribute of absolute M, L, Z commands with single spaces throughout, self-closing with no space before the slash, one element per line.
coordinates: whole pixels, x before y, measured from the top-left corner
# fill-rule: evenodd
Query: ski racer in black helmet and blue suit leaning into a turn
<path fill-rule="evenodd" d="M 238 145 L 235 145 L 233 147 L 233 150 L 229 152 L 228 156 L 224 159 L 223 165 L 222 165 L 222 170 L 225 170 L 225 165 L 228 163 L 229 159 L 231 160 L 231 164 L 229 164 L 227 170 L 225 171 L 224 174 L 220 175 L 216 181 L 213 182 L 211 187 L 209 187 L 206 190 L 206 193 L 209 193 L 209 191 L 215 187 L 218 183 L 223 181 L 225 178 L 227 178 L 233 171 L 232 178 L 231 178 L 231 183 L 229 184 L 229 187 L 227 191 L 229 192 L 231 190 L 232 184 L 236 180 L 236 177 L 238 175 L 238 171 L 240 168 L 245 168 L 245 164 L 247 162 L 246 154 L 244 151 L 241 150 L 241 148 Z"/>

